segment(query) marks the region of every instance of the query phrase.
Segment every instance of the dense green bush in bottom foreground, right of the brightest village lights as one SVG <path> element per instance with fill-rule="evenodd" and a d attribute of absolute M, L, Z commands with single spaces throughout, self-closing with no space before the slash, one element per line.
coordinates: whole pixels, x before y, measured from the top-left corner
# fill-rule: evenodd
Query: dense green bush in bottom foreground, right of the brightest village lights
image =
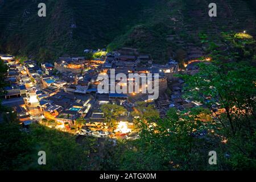
<path fill-rule="evenodd" d="M 135 142 L 133 150 L 123 155 L 121 169 L 205 169 L 208 142 L 192 137 L 195 131 L 204 130 L 197 114 L 196 110 L 185 114 L 171 109 L 167 118 L 148 121 L 147 124 L 141 122 L 141 138 Z M 205 145 L 201 145 L 204 142 Z"/>

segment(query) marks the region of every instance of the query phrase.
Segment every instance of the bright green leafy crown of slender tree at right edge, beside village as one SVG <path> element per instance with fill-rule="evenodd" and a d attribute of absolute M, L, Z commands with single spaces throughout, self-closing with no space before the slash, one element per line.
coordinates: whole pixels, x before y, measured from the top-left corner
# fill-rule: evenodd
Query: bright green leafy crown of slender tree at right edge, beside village
<path fill-rule="evenodd" d="M 185 97 L 196 100 L 208 106 L 216 113 L 217 103 L 225 109 L 225 117 L 229 120 L 226 126 L 220 118 L 218 121 L 224 127 L 230 127 L 236 133 L 241 127 L 240 117 L 255 116 L 256 69 L 247 65 L 228 63 L 221 67 L 214 64 L 201 64 L 200 72 L 193 76 L 183 75 L 187 86 Z M 207 99 L 208 98 L 208 99 Z M 248 120 L 250 125 L 250 120 Z"/>

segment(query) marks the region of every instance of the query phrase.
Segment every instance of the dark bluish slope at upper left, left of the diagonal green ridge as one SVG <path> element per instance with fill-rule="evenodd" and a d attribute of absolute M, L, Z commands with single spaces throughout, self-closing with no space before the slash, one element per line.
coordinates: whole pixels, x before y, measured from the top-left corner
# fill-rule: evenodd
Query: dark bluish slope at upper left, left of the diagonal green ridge
<path fill-rule="evenodd" d="M 45 57 L 104 48 L 156 0 L 0 1 L 2 52 Z M 47 16 L 38 16 L 46 3 Z M 48 56 L 50 55 L 50 56 Z"/>

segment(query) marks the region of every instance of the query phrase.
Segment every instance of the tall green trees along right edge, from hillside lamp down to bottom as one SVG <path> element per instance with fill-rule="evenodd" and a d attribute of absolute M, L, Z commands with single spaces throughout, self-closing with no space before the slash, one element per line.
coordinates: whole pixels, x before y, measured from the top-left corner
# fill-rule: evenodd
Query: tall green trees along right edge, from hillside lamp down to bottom
<path fill-rule="evenodd" d="M 208 128 L 225 143 L 217 149 L 222 169 L 255 169 L 256 69 L 250 62 L 255 54 L 250 45 L 255 42 L 244 42 L 234 35 L 222 34 L 225 51 L 209 46 L 212 63 L 201 63 L 195 75 L 180 76 L 186 82 L 184 97 L 201 102 L 212 113 Z M 238 53 L 245 50 L 247 56 Z"/>

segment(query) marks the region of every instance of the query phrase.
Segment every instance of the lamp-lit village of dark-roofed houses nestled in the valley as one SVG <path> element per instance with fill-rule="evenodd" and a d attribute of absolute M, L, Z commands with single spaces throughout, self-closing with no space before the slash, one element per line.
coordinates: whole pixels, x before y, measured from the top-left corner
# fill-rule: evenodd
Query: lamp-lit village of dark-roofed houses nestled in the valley
<path fill-rule="evenodd" d="M 77 135 L 110 137 L 122 139 L 138 138 L 135 119 L 140 111 L 137 105 L 150 106 L 160 118 L 166 117 L 170 108 L 178 111 L 201 106 L 194 101 L 184 100 L 184 80 L 177 73 L 195 74 L 197 63 L 209 59 L 188 61 L 180 69 L 177 61 L 170 59 L 167 64 L 155 64 L 150 55 L 140 54 L 134 48 L 121 48 L 114 52 L 105 49 L 85 52 L 98 54 L 97 58 L 63 56 L 52 63 L 38 63 L 27 60 L 20 63 L 14 56 L 2 54 L 1 60 L 9 65 L 6 77 L 6 93 L 2 105 L 12 107 L 24 127 L 39 123 L 47 127 Z M 104 76 L 123 73 L 158 74 L 159 97 L 148 99 L 150 93 L 101 93 L 98 85 Z M 131 78 L 129 78 L 131 79 Z M 143 85 L 132 80 L 141 91 Z M 154 82 L 154 80 L 153 80 Z M 120 84 L 109 84 L 109 90 Z M 116 106 L 116 107 L 115 107 Z M 109 116 L 110 115 L 110 116 Z M 113 125 L 114 123 L 114 125 Z"/>

